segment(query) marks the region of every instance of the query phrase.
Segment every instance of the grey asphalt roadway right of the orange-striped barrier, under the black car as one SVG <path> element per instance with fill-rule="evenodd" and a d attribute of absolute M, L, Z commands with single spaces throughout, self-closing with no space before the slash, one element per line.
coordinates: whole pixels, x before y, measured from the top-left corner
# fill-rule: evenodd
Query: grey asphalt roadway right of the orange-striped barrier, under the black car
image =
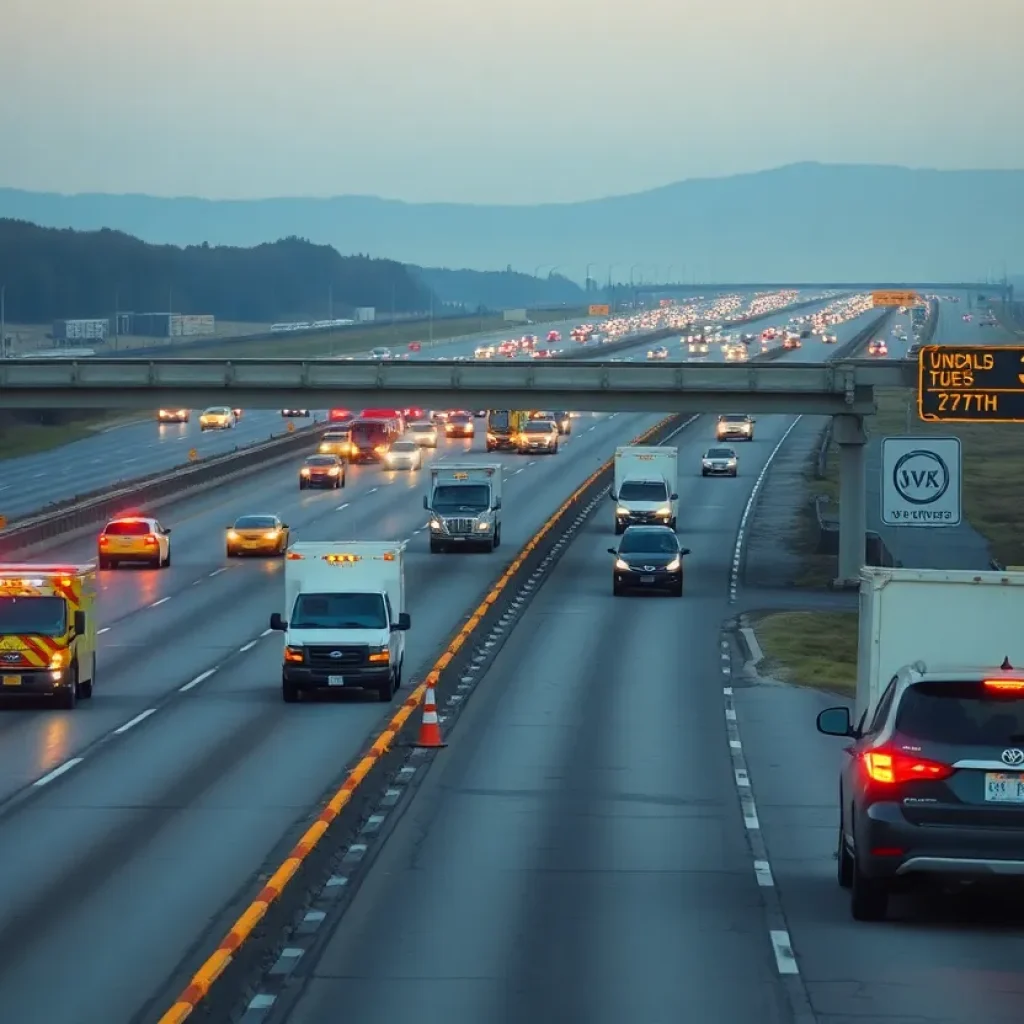
<path fill-rule="evenodd" d="M 736 796 L 720 645 L 740 516 L 792 420 L 758 417 L 736 479 L 700 476 L 714 418 L 677 436 L 682 599 L 612 597 L 610 503 L 598 508 L 324 953 L 300 963 L 297 1004 L 268 1020 L 793 1020 Z"/>

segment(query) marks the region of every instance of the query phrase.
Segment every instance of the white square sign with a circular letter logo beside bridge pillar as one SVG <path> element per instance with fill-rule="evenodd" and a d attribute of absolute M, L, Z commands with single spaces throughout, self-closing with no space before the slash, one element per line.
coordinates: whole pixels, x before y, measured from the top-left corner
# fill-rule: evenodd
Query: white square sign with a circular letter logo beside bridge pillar
<path fill-rule="evenodd" d="M 882 438 L 882 522 L 887 526 L 958 526 L 958 437 Z"/>

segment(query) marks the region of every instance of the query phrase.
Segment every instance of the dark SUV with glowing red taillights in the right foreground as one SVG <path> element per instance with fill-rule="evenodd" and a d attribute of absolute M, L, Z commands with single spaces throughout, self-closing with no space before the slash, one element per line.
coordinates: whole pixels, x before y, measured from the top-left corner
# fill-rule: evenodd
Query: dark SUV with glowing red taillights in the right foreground
<path fill-rule="evenodd" d="M 854 726 L 846 708 L 818 731 L 853 740 L 840 778 L 839 884 L 857 921 L 886 916 L 915 879 L 1024 878 L 1024 673 L 921 662 L 890 680 Z"/>

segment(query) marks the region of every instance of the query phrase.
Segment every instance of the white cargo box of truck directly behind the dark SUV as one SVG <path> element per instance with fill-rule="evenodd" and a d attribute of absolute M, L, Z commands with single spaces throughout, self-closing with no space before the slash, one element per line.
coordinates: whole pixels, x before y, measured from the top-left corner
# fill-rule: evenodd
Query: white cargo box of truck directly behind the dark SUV
<path fill-rule="evenodd" d="M 1024 572 L 861 569 L 854 725 L 906 666 L 983 672 L 1005 657 L 1024 668 Z"/>

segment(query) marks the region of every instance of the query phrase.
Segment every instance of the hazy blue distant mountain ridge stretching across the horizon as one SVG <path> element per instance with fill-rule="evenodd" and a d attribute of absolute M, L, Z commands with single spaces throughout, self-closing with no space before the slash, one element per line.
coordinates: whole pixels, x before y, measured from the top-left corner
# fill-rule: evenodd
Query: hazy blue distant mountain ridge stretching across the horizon
<path fill-rule="evenodd" d="M 155 244 L 298 236 L 424 267 L 541 266 L 582 282 L 967 280 L 1024 270 L 1024 170 L 805 161 L 538 205 L 375 196 L 207 200 L 0 188 L 0 217 Z M 638 266 L 638 264 L 644 264 Z M 655 273 L 655 271 L 657 271 Z"/>

